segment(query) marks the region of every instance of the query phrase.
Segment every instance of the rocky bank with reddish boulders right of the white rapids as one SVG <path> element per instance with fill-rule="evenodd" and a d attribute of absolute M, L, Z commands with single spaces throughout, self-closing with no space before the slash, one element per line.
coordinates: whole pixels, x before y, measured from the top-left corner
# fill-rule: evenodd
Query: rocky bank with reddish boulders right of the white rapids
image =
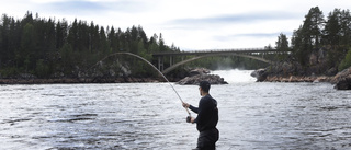
<path fill-rule="evenodd" d="M 291 55 L 268 68 L 253 71 L 251 76 L 258 82 L 330 82 L 338 90 L 351 90 L 351 67 L 338 72 L 338 67 L 328 59 L 335 53 L 336 47 L 331 46 L 316 48 L 304 66 Z"/>

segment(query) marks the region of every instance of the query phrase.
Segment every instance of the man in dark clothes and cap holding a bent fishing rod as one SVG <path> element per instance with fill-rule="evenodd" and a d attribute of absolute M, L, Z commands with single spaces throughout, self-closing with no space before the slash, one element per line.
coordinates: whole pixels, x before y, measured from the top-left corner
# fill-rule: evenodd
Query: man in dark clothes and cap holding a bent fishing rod
<path fill-rule="evenodd" d="M 219 138 L 219 131 L 216 128 L 218 123 L 217 101 L 210 95 L 210 82 L 201 81 L 199 85 L 200 95 L 199 107 L 188 103 L 182 103 L 183 107 L 190 108 L 197 114 L 197 117 L 188 116 L 188 123 L 196 123 L 196 129 L 200 135 L 197 138 L 197 150 L 215 150 Z"/>

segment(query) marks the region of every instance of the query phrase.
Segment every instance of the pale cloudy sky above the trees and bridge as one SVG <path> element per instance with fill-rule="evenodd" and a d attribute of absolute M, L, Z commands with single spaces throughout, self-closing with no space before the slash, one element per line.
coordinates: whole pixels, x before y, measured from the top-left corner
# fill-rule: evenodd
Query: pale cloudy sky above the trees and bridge
<path fill-rule="evenodd" d="M 0 13 L 22 19 L 26 11 L 41 18 L 76 18 L 125 31 L 143 26 L 148 37 L 162 33 L 167 45 L 182 50 L 252 48 L 275 45 L 280 33 L 291 37 L 313 7 L 327 16 L 349 0 L 10 0 Z"/>

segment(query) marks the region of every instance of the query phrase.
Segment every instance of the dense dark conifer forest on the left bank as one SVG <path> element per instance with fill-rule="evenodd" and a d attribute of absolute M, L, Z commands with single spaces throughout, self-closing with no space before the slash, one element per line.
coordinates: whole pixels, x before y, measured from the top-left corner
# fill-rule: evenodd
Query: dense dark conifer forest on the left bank
<path fill-rule="evenodd" d="M 23 19 L 3 14 L 0 20 L 0 78 L 76 78 L 77 70 L 87 70 L 113 53 L 128 51 L 152 61 L 152 53 L 171 50 L 179 48 L 167 46 L 162 34 L 147 37 L 141 26 L 122 31 L 77 19 L 68 23 L 38 14 L 33 18 L 31 12 Z M 134 74 L 151 76 L 143 65 L 131 65 L 131 69 Z"/>

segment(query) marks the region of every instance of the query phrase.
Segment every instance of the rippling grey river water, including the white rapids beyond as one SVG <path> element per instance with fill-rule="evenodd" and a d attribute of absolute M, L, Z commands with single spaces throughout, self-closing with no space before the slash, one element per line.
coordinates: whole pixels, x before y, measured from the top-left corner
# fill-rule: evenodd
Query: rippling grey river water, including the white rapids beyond
<path fill-rule="evenodd" d="M 229 82 L 210 91 L 219 108 L 218 150 L 351 149 L 350 91 L 214 73 Z M 196 85 L 173 85 L 197 105 Z M 0 149 L 186 150 L 199 136 L 186 115 L 168 83 L 0 85 Z"/>

